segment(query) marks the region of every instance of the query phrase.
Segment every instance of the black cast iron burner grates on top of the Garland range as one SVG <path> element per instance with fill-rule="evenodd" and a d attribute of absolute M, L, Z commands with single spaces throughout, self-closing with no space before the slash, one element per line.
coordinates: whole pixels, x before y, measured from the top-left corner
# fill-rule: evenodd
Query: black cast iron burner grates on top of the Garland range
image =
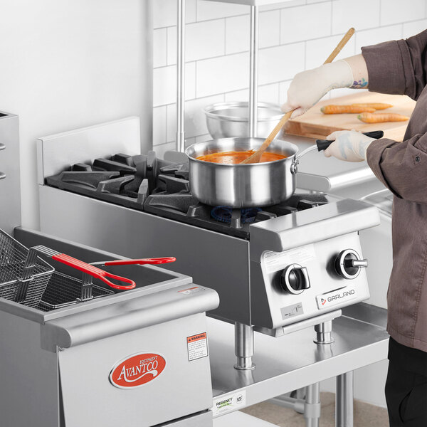
<path fill-rule="evenodd" d="M 251 223 L 310 209 L 328 202 L 324 194 L 294 194 L 282 204 L 231 209 L 207 206 L 191 195 L 188 163 L 158 159 L 154 152 L 115 154 L 78 163 L 46 178 L 46 184 L 181 223 L 249 240 Z"/>

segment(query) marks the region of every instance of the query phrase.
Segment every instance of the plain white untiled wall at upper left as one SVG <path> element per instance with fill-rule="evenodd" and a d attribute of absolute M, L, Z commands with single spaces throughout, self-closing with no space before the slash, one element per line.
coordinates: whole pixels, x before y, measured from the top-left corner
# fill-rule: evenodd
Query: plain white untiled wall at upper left
<path fill-rule="evenodd" d="M 146 99 L 151 106 L 143 85 L 148 6 L 0 0 L 0 110 L 19 115 L 24 226 L 38 227 L 37 137 L 143 115 Z"/>

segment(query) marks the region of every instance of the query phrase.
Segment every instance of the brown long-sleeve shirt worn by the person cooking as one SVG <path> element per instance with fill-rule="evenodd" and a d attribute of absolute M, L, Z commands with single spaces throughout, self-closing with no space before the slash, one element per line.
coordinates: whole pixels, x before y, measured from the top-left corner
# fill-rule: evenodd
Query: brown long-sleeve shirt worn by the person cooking
<path fill-rule="evenodd" d="M 404 141 L 372 142 L 367 162 L 394 193 L 387 330 L 397 342 L 427 352 L 427 30 L 362 48 L 362 55 L 369 90 L 417 101 Z"/>

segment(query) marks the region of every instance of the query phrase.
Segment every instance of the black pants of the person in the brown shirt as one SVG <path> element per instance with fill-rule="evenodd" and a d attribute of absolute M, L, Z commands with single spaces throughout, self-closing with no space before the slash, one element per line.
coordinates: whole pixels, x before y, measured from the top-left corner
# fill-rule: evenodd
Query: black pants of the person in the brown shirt
<path fill-rule="evenodd" d="M 390 338 L 386 401 L 390 427 L 427 427 L 427 353 Z"/>

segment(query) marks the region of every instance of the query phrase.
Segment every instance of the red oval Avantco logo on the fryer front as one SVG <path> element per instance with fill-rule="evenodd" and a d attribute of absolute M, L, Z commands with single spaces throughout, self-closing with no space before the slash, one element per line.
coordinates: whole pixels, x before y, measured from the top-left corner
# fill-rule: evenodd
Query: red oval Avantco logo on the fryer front
<path fill-rule="evenodd" d="M 119 389 L 140 387 L 156 379 L 162 374 L 164 367 L 166 367 L 166 360 L 160 354 L 133 354 L 112 368 L 110 381 Z"/>

